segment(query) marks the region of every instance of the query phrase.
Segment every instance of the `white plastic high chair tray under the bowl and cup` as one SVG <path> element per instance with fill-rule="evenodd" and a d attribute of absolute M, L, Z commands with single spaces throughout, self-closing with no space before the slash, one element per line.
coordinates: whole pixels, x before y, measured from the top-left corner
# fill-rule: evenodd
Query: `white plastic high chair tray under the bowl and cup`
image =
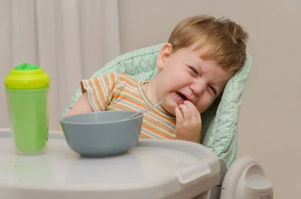
<path fill-rule="evenodd" d="M 87 158 L 50 131 L 47 153 L 24 156 L 0 129 L 0 198 L 191 198 L 219 172 L 213 152 L 187 141 L 142 139 L 123 155 Z"/>

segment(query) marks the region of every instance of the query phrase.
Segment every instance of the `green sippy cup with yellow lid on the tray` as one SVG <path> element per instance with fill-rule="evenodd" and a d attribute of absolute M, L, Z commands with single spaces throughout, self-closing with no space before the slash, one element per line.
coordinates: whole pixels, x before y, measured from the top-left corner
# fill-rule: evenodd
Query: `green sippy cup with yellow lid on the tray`
<path fill-rule="evenodd" d="M 42 68 L 23 63 L 5 78 L 13 144 L 18 154 L 48 150 L 50 78 Z"/>

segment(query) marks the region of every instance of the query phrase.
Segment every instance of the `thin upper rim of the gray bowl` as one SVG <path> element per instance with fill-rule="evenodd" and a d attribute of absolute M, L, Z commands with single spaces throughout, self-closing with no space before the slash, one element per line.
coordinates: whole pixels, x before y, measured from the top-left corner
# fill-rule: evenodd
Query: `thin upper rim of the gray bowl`
<path fill-rule="evenodd" d="M 116 112 L 132 112 L 133 114 L 137 113 L 138 111 L 131 111 L 131 110 L 110 110 L 110 111 L 116 111 Z M 126 121 L 122 121 L 122 119 L 117 120 L 117 121 L 108 121 L 108 122 L 72 122 L 72 121 L 66 121 L 66 118 L 70 118 L 70 117 L 75 117 L 78 115 L 89 115 L 89 114 L 101 114 L 103 112 L 106 111 L 94 111 L 94 112 L 89 112 L 89 113 L 78 113 L 78 114 L 74 114 L 74 115 L 68 115 L 68 116 L 64 116 L 60 119 L 60 123 L 64 123 L 64 124 L 111 124 L 111 123 L 120 123 L 120 122 L 127 122 L 127 121 L 131 121 L 134 119 L 137 119 L 137 117 L 143 117 L 144 114 L 140 114 L 137 115 L 135 117 L 132 117 Z"/>

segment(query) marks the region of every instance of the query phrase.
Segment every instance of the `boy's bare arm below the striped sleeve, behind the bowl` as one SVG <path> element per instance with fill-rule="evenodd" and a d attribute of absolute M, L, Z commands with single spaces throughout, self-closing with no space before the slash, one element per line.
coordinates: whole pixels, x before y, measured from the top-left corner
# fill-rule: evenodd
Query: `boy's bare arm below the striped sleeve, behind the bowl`
<path fill-rule="evenodd" d="M 82 94 L 82 96 L 80 96 L 80 98 L 75 102 L 71 110 L 65 116 L 89 112 L 93 112 L 93 109 L 88 99 L 88 93 L 85 92 L 84 94 Z M 61 124 L 59 125 L 57 130 L 62 131 Z"/>

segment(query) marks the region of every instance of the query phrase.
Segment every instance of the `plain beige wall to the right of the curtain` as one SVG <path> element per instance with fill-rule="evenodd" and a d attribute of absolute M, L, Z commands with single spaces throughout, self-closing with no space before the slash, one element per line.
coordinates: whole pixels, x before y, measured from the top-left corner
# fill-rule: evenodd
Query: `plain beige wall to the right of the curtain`
<path fill-rule="evenodd" d="M 246 27 L 253 68 L 241 108 L 238 156 L 261 162 L 276 199 L 301 198 L 300 9 L 297 0 L 119 0 L 122 53 L 166 42 L 179 20 L 195 14 Z"/>

